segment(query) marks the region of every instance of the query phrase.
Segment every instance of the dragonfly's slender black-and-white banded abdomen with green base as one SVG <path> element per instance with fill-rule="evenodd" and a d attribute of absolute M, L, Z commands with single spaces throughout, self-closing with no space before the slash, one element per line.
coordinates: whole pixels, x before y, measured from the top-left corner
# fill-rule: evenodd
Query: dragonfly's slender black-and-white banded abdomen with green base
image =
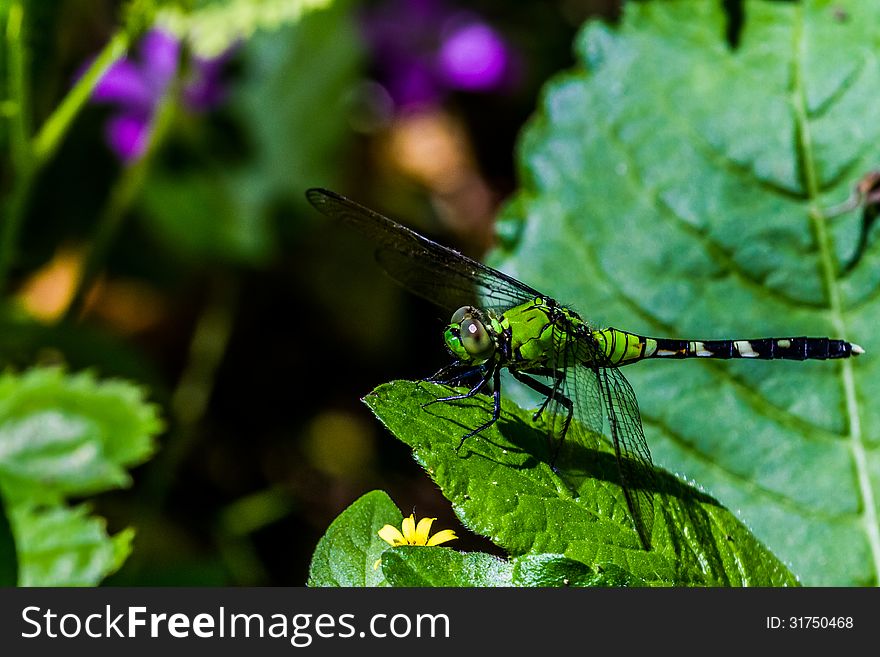
<path fill-rule="evenodd" d="M 648 338 L 619 329 L 593 332 L 611 362 L 626 365 L 645 358 L 756 358 L 827 360 L 864 353 L 859 345 L 831 338 L 756 338 L 751 340 L 676 340 Z"/>

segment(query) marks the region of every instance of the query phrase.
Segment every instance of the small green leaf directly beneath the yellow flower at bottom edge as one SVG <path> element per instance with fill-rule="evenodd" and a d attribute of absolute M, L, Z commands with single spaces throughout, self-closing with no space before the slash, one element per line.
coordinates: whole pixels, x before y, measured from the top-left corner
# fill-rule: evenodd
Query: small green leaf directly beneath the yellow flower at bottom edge
<path fill-rule="evenodd" d="M 391 586 L 512 586 L 510 563 L 482 552 L 402 545 L 382 555 Z"/>

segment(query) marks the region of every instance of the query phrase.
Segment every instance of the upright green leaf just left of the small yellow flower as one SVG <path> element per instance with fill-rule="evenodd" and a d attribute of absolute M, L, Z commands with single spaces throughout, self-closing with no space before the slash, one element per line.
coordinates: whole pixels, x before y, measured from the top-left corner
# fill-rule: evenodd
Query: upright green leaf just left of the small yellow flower
<path fill-rule="evenodd" d="M 386 493 L 374 490 L 339 514 L 312 555 L 309 586 L 382 586 L 377 562 L 388 549 L 379 538 L 385 525 L 400 527 L 403 514 Z"/>

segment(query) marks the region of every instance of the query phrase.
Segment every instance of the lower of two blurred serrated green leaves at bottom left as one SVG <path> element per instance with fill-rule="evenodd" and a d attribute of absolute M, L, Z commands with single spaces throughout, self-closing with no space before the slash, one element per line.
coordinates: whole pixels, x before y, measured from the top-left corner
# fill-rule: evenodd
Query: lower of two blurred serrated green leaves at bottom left
<path fill-rule="evenodd" d="M 94 586 L 131 553 L 134 530 L 108 536 L 104 521 L 85 506 L 20 507 L 12 515 L 21 586 Z"/>

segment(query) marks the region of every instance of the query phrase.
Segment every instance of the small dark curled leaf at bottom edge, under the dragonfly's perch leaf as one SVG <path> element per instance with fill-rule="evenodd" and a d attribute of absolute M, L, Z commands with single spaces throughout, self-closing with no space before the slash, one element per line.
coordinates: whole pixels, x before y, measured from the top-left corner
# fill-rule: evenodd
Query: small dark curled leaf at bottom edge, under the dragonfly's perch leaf
<path fill-rule="evenodd" d="M 513 561 L 516 586 L 645 586 L 645 581 L 615 564 L 595 569 L 561 554 L 535 554 Z"/>

